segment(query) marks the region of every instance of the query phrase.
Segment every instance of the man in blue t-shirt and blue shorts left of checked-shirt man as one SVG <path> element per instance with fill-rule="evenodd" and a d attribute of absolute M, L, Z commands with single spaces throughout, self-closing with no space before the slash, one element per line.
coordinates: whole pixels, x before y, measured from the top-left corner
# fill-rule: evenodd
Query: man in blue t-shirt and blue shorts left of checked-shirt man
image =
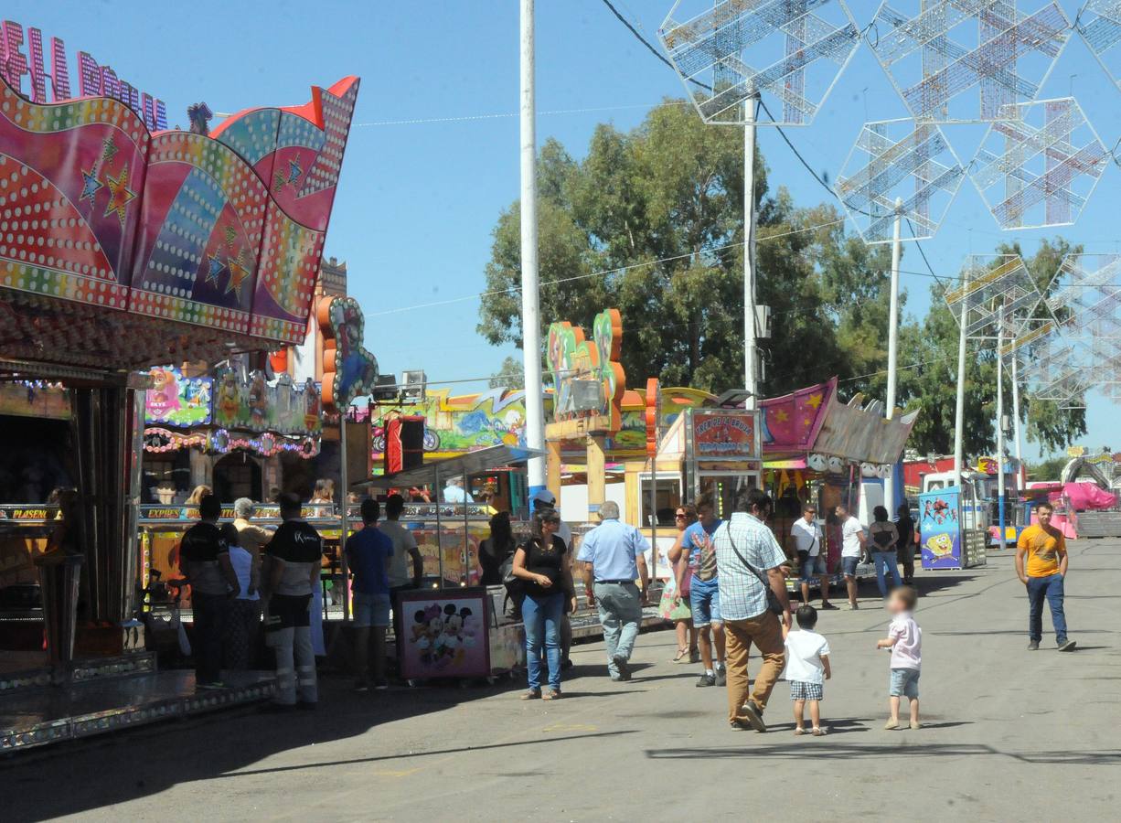
<path fill-rule="evenodd" d="M 697 500 L 697 521 L 682 534 L 678 553 L 670 551 L 669 562 L 676 563 L 680 552 L 686 552 L 689 562 L 689 611 L 693 626 L 701 641 L 701 660 L 704 672 L 698 686 L 723 686 L 728 682 L 724 667 L 724 622 L 720 617 L 720 581 L 716 579 L 716 549 L 712 536 L 723 523 L 716 517 L 716 505 L 712 496 Z M 716 662 L 713 665 L 713 646 Z"/>

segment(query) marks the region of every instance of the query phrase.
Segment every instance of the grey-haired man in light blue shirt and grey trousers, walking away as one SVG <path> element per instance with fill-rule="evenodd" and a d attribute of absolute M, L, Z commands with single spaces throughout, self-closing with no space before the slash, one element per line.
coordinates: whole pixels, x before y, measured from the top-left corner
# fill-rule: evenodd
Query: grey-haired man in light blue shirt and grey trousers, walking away
<path fill-rule="evenodd" d="M 619 523 L 619 503 L 600 506 L 600 525 L 584 536 L 577 561 L 584 564 L 587 604 L 600 612 L 608 647 L 608 673 L 613 681 L 629 681 L 630 657 L 642 622 L 650 574 L 646 552 L 650 544 L 633 526 Z M 641 589 L 634 581 L 641 581 Z"/>

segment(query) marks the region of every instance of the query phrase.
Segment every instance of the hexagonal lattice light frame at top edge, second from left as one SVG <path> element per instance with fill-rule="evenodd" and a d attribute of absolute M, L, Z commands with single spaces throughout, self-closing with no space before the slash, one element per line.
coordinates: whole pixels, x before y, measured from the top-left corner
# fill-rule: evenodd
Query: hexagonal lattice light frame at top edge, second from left
<path fill-rule="evenodd" d="M 1069 25 L 1054 0 L 886 0 L 865 37 L 916 120 L 985 122 L 1036 99 Z"/>

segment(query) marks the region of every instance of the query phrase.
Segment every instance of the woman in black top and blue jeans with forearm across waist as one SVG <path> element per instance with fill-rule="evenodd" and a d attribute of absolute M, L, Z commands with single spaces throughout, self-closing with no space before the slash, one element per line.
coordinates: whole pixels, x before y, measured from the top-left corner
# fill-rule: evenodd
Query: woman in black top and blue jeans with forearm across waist
<path fill-rule="evenodd" d="M 513 553 L 513 576 L 524 581 L 526 599 L 521 617 L 526 625 L 526 667 L 529 690 L 522 700 L 556 700 L 560 696 L 560 620 L 565 601 L 576 610 L 572 571 L 564 540 L 556 536 L 560 515 L 545 509 L 534 515 L 534 536 Z M 541 646 L 549 666 L 549 687 L 541 694 Z"/>

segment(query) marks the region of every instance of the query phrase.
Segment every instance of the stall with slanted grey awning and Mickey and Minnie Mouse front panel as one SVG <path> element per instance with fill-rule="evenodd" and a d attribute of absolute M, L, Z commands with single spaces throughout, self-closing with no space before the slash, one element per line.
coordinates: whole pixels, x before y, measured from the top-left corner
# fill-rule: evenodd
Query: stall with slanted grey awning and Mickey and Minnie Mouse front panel
<path fill-rule="evenodd" d="M 487 475 L 497 469 L 525 464 L 544 452 L 516 446 L 491 446 L 433 461 L 414 469 L 371 477 L 352 488 L 365 491 L 423 488 L 442 489 L 448 478 Z M 521 473 L 513 477 L 524 478 Z M 525 494 L 525 490 L 522 490 Z M 521 537 L 527 536 L 522 511 Z M 426 586 L 402 592 L 397 609 L 397 657 L 401 677 L 493 678 L 512 674 L 526 659 L 521 625 L 507 618 L 506 589 L 480 586 L 479 543 L 490 534 L 490 509 L 476 503 L 433 502 L 418 506 L 408 523 L 425 562 L 425 574 L 435 566 L 436 579 Z"/>

